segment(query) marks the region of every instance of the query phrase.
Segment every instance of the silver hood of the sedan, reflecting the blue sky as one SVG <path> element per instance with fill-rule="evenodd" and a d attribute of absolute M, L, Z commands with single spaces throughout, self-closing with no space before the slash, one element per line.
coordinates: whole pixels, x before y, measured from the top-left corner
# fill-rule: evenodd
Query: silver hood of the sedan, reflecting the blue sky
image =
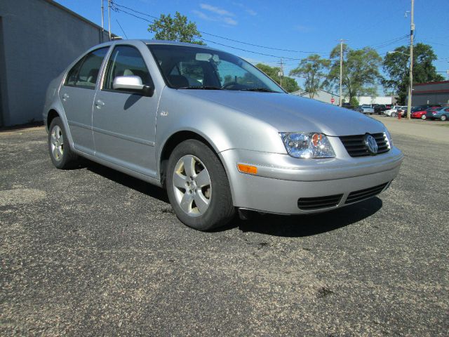
<path fill-rule="evenodd" d="M 385 130 L 380 121 L 360 112 L 295 95 L 253 91 L 182 91 L 260 119 L 280 132 L 305 131 L 348 136 Z"/>

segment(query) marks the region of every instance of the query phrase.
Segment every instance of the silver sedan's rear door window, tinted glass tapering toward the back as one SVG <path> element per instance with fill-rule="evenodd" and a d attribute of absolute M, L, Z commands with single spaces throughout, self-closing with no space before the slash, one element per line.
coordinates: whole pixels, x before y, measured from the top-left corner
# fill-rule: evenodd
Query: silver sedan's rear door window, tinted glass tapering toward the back
<path fill-rule="evenodd" d="M 95 88 L 100 67 L 109 47 L 100 48 L 84 56 L 67 74 L 65 84 L 68 86 L 81 86 L 82 88 Z"/>

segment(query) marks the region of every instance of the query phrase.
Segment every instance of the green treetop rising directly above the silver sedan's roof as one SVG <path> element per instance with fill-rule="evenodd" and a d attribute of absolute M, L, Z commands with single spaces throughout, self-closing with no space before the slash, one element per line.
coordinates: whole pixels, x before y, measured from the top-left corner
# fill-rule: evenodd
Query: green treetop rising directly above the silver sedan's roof
<path fill-rule="evenodd" d="M 190 44 L 204 44 L 203 41 L 196 39 L 201 37 L 200 32 L 196 28 L 194 22 L 187 22 L 187 16 L 175 13 L 172 18 L 170 14 L 161 14 L 159 20 L 155 20 L 148 25 L 148 32 L 154 33 L 156 40 L 170 40 L 188 42 Z"/>

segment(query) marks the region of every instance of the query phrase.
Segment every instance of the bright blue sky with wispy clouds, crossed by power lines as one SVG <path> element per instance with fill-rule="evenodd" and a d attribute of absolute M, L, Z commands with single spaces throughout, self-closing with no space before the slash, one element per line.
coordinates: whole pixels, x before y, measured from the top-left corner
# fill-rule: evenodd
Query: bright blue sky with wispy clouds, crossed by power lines
<path fill-rule="evenodd" d="M 173 15 L 175 11 L 179 11 L 196 22 L 202 32 L 249 44 L 290 50 L 260 48 L 203 34 L 203 38 L 208 40 L 208 46 L 229 51 L 250 62 L 265 62 L 274 66 L 279 65 L 283 57 L 286 74 L 298 62 L 288 58 L 309 55 L 293 51 L 314 51 L 328 57 L 339 39 L 347 39 L 351 48 L 374 47 L 382 56 L 396 46 L 409 44 L 408 37 L 404 36 L 410 32 L 410 14 L 405 17 L 406 11 L 410 11 L 410 0 L 113 1 L 154 17 L 159 17 L 161 13 Z M 88 20 L 101 24 L 101 0 L 57 2 Z M 121 9 L 130 12 L 126 8 Z M 153 20 L 135 12 L 134 14 Z M 148 22 L 144 20 L 112 11 L 111 21 L 114 34 L 124 35 L 118 21 L 128 38 L 152 38 L 152 34 L 147 32 Z M 430 44 L 434 48 L 438 56 L 438 60 L 434 62 L 436 70 L 448 78 L 445 72 L 449 70 L 449 0 L 416 0 L 415 25 L 415 42 Z M 107 13 L 105 27 L 107 28 Z"/>

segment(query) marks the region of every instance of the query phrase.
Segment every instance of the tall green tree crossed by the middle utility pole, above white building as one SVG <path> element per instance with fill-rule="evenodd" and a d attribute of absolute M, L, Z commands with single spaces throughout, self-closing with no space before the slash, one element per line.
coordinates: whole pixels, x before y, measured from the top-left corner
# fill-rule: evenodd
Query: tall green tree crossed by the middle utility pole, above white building
<path fill-rule="evenodd" d="M 377 84 L 382 80 L 379 66 L 382 58 L 373 48 L 351 49 L 343 44 L 342 92 L 349 102 L 360 95 L 375 95 Z M 337 91 L 340 85 L 340 44 L 330 52 L 333 65 L 324 86 Z M 343 99 L 343 98 L 341 98 Z"/>

